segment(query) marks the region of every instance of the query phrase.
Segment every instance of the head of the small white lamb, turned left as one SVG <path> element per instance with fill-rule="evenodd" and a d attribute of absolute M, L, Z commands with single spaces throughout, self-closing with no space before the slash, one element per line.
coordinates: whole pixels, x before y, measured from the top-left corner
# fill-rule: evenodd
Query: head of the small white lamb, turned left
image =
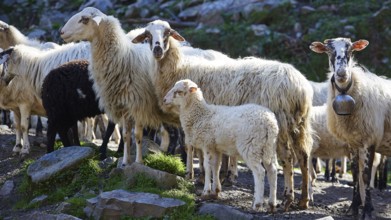
<path fill-rule="evenodd" d="M 170 91 L 168 91 L 167 95 L 164 97 L 163 103 L 165 105 L 181 106 L 184 103 L 185 97 L 196 92 L 197 89 L 197 84 L 191 80 L 180 80 L 175 83 Z"/>

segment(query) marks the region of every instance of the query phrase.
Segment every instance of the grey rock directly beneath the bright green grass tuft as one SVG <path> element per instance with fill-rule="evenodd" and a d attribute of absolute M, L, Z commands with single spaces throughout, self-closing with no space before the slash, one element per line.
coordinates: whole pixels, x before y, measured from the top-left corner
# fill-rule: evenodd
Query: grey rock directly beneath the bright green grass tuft
<path fill-rule="evenodd" d="M 137 173 L 144 173 L 148 177 L 154 179 L 157 186 L 162 189 L 171 189 L 178 185 L 178 181 L 182 177 L 167 173 L 161 170 L 156 170 L 139 163 L 133 163 L 130 166 L 124 168 L 124 174 L 127 178 L 127 183 L 131 184 L 135 181 L 134 177 Z"/>

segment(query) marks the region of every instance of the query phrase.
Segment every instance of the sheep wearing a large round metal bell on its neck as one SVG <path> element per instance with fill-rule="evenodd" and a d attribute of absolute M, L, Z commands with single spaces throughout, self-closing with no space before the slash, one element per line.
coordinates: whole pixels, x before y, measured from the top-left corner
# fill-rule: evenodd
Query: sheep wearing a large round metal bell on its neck
<path fill-rule="evenodd" d="M 369 187 L 375 151 L 391 155 L 391 82 L 371 73 L 352 57 L 369 44 L 334 38 L 313 42 L 310 49 L 329 58 L 327 127 L 338 139 L 353 149 L 352 173 L 355 181 L 351 210 L 371 218 L 373 205 Z"/>

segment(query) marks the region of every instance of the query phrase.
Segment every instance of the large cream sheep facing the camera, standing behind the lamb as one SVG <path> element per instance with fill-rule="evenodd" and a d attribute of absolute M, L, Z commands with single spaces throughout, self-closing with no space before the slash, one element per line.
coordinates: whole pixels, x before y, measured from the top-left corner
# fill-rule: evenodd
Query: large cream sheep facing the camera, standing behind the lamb
<path fill-rule="evenodd" d="M 158 63 L 154 84 L 159 105 L 176 114 L 173 106 L 163 105 L 164 95 L 176 81 L 189 78 L 204 89 L 208 102 L 221 105 L 257 103 L 270 108 L 279 121 L 278 155 L 285 177 L 285 210 L 294 200 L 293 164 L 298 158 L 303 176 L 302 198 L 299 206 L 308 208 L 308 160 L 312 146 L 309 112 L 312 107 L 312 88 L 308 80 L 292 65 L 255 57 L 216 59 L 208 61 L 186 57 L 178 49 L 184 38 L 167 22 L 156 20 L 133 42 L 148 39 Z M 188 157 L 188 172 L 192 172 Z"/>

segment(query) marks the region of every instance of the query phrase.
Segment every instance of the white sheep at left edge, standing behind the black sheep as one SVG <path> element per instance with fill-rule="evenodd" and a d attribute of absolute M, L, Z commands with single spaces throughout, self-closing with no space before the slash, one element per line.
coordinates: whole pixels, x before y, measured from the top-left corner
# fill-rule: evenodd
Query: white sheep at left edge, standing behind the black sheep
<path fill-rule="evenodd" d="M 6 66 L 5 77 L 16 76 L 10 84 L 11 87 L 7 88 L 12 91 L 12 96 L 4 97 L 7 104 L 3 103 L 4 108 L 15 111 L 17 132 L 13 152 L 25 155 L 30 151 L 28 140 L 30 115 L 46 115 L 40 94 L 45 76 L 60 64 L 88 58 L 89 43 L 65 44 L 51 50 L 18 44 L 3 51 L 0 56 L 4 58 L 0 64 L 4 63 Z"/>

